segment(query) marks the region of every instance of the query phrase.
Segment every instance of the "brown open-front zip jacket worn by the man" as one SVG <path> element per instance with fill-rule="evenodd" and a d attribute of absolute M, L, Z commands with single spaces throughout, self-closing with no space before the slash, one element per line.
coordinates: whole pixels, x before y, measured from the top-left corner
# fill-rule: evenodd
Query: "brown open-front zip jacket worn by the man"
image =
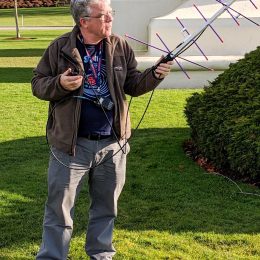
<path fill-rule="evenodd" d="M 72 32 L 54 40 L 45 50 L 32 78 L 33 94 L 50 101 L 49 143 L 71 155 L 74 154 L 81 109 L 81 100 L 73 96 L 82 95 L 83 85 L 75 91 L 67 91 L 60 85 L 60 75 L 68 68 L 80 73 L 84 70 L 76 48 L 78 32 L 79 28 L 75 26 Z M 129 138 L 131 126 L 126 94 L 142 95 L 155 89 L 161 80 L 156 79 L 150 69 L 143 73 L 136 69 L 134 52 L 123 38 L 112 35 L 105 39 L 105 46 L 108 87 L 115 104 L 113 127 L 119 138 Z"/>

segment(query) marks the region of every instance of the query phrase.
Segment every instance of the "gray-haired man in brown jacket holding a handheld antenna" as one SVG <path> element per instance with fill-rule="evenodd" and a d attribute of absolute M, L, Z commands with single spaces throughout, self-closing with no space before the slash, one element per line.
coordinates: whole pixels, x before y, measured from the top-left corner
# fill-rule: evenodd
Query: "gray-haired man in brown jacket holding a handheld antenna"
<path fill-rule="evenodd" d="M 139 96 L 170 72 L 160 64 L 136 69 L 127 42 L 111 34 L 108 0 L 71 1 L 76 26 L 44 52 L 32 79 L 33 94 L 50 102 L 52 154 L 43 240 L 37 259 L 66 259 L 76 196 L 88 177 L 90 209 L 86 253 L 112 259 L 117 201 L 125 182 L 130 121 L 126 94 Z"/>

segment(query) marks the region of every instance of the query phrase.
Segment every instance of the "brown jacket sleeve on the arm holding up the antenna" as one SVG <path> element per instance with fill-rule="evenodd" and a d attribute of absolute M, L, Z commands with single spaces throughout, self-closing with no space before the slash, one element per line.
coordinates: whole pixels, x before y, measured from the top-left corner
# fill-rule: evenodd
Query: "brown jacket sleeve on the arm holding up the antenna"
<path fill-rule="evenodd" d="M 143 72 L 137 70 L 137 61 L 134 51 L 126 42 L 125 57 L 127 59 L 127 76 L 124 84 L 125 93 L 133 97 L 143 95 L 155 89 L 162 79 L 154 76 L 153 68 L 148 68 Z"/>

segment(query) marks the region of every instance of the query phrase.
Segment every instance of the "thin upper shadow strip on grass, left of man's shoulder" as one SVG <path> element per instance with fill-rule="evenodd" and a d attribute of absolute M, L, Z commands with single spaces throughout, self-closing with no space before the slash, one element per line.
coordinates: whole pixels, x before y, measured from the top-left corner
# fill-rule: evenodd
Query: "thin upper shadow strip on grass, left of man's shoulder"
<path fill-rule="evenodd" d="M 0 57 L 41 57 L 44 49 L 4 49 Z"/>

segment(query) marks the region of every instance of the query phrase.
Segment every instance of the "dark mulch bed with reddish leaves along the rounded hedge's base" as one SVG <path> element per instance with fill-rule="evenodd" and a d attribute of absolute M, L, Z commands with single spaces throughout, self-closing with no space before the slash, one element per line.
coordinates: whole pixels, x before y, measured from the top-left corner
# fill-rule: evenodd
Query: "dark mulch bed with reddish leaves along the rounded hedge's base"
<path fill-rule="evenodd" d="M 185 151 L 188 157 L 190 157 L 194 162 L 196 162 L 200 167 L 202 167 L 208 173 L 221 174 L 230 178 L 233 181 L 239 180 L 260 188 L 260 180 L 251 180 L 249 178 L 239 179 L 237 178 L 236 172 L 230 169 L 219 169 L 216 166 L 214 166 L 214 164 L 210 160 L 208 160 L 200 153 L 200 151 L 194 145 L 192 140 L 186 140 L 183 143 L 183 150 Z"/>

